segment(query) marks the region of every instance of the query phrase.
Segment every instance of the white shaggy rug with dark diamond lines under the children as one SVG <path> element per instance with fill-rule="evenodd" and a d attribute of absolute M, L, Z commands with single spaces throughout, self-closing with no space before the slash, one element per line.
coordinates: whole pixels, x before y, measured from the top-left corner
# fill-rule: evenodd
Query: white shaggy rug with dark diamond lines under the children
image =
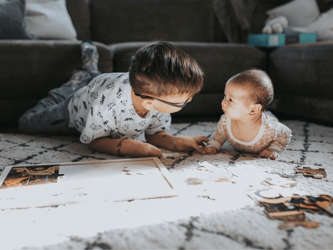
<path fill-rule="evenodd" d="M 333 249 L 333 218 L 306 215 L 320 226 L 293 231 L 278 228 L 263 207 L 246 196 L 264 189 L 264 177 L 297 181 L 286 192 L 333 196 L 333 128 L 285 121 L 293 137 L 275 160 L 240 153 L 230 144 L 216 155 L 163 149 L 178 197 L 58 207 L 0 210 L 0 249 Z M 216 123 L 172 124 L 174 135 L 209 136 Z M 0 134 L 0 173 L 7 165 L 117 159 L 92 152 L 78 137 Z M 198 161 L 228 166 L 236 183 L 217 182 L 215 200 L 197 196 L 208 171 Z M 296 174 L 297 167 L 325 168 L 327 178 Z M 194 185 L 198 184 L 198 185 Z M 201 188 L 201 191 L 200 191 Z"/>

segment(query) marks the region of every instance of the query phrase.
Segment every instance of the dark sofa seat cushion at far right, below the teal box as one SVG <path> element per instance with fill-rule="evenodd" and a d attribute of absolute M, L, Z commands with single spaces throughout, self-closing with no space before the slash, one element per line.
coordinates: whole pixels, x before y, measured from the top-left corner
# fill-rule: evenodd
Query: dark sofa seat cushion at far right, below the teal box
<path fill-rule="evenodd" d="M 270 55 L 276 92 L 333 99 L 333 41 L 291 44 Z"/>

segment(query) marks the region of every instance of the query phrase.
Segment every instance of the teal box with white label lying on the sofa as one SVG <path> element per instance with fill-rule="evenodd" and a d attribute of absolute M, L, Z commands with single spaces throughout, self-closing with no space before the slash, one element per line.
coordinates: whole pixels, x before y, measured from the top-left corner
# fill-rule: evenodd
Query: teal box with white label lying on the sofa
<path fill-rule="evenodd" d="M 317 33 L 287 32 L 282 34 L 250 34 L 248 44 L 259 47 L 279 47 L 290 43 L 317 41 Z"/>

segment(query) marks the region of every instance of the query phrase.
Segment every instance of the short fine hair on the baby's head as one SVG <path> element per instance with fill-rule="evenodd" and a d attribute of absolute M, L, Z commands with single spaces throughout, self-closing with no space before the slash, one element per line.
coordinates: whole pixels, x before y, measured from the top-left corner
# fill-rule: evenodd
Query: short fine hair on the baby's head
<path fill-rule="evenodd" d="M 266 111 L 268 107 L 274 108 L 273 83 L 265 71 L 257 68 L 245 70 L 231 77 L 228 82 L 243 86 L 248 91 L 247 102 L 260 104 L 261 111 Z"/>

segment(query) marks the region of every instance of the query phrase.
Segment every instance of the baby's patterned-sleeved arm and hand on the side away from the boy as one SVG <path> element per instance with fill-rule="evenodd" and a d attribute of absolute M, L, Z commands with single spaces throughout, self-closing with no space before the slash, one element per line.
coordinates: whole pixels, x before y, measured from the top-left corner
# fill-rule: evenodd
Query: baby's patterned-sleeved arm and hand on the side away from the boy
<path fill-rule="evenodd" d="M 286 149 L 290 142 L 291 136 L 291 130 L 286 125 L 279 122 L 277 125 L 275 139 L 267 148 L 263 149 L 259 153 L 259 156 L 275 160 L 279 154 Z"/>

